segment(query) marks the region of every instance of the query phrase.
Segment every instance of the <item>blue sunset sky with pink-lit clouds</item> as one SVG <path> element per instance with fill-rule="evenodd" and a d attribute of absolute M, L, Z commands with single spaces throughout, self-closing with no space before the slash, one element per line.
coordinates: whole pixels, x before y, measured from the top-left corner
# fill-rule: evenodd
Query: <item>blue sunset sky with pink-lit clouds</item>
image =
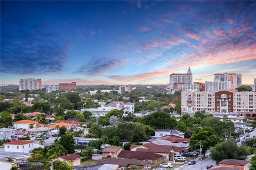
<path fill-rule="evenodd" d="M 255 1 L 1 1 L 1 83 L 256 78 Z"/>

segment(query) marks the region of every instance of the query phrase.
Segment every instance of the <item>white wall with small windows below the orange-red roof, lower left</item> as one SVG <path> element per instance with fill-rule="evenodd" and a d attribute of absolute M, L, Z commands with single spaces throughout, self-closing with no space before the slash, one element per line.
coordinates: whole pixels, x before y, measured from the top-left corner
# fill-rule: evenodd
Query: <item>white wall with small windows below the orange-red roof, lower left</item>
<path fill-rule="evenodd" d="M 29 144 L 26 144 L 26 145 L 6 145 L 5 144 L 4 145 L 4 151 L 5 152 L 25 152 L 25 153 L 28 153 L 30 150 L 34 149 L 34 145 L 35 145 L 35 143 L 29 143 Z M 19 147 L 19 148 L 17 148 L 17 147 Z"/>

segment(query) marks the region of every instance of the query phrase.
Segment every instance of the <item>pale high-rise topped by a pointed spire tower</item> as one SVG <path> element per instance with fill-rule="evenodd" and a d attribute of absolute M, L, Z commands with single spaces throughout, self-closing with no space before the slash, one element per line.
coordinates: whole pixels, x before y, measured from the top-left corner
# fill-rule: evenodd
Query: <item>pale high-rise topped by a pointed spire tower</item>
<path fill-rule="evenodd" d="M 187 73 L 172 73 L 170 75 L 169 88 L 171 90 L 174 90 L 175 83 L 193 84 L 193 74 L 190 67 L 188 67 Z"/>

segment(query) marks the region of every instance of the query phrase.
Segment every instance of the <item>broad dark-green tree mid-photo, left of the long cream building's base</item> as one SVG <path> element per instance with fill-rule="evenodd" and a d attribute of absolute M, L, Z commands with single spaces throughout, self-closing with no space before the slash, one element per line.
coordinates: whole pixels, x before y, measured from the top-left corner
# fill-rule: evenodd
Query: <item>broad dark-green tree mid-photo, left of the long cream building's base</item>
<path fill-rule="evenodd" d="M 174 129 L 177 125 L 177 120 L 168 113 L 158 111 L 143 117 L 142 123 L 155 129 Z"/>

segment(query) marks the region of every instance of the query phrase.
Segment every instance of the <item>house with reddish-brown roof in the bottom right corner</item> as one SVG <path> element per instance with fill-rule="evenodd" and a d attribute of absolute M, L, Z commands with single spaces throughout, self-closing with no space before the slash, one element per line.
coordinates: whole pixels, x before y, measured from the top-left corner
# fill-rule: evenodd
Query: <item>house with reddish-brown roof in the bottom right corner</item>
<path fill-rule="evenodd" d="M 223 159 L 219 162 L 219 166 L 226 166 L 226 167 L 238 167 L 241 170 L 249 170 L 250 163 L 247 160 L 237 160 L 237 159 Z"/>

